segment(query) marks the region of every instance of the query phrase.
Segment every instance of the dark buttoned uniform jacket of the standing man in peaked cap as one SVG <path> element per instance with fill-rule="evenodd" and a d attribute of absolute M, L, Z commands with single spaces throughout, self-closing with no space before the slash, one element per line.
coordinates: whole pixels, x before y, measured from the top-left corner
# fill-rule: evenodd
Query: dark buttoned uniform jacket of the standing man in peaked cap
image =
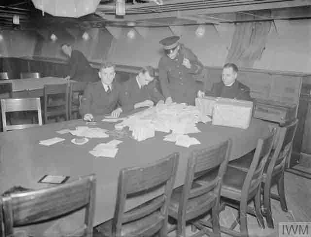
<path fill-rule="evenodd" d="M 191 68 L 182 65 L 184 58 L 189 59 Z M 198 58 L 182 44 L 174 59 L 164 55 L 159 61 L 159 80 L 164 97 L 194 105 L 198 88 L 193 74 L 201 73 L 202 69 Z"/>

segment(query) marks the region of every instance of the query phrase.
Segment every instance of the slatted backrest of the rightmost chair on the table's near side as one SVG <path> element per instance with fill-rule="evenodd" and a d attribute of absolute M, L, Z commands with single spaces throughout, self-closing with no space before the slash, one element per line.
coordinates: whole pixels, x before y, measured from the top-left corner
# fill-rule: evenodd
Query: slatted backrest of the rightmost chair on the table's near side
<path fill-rule="evenodd" d="M 297 125 L 298 119 L 285 127 L 277 128 L 278 140 L 267 173 L 279 172 L 285 169 L 286 159 L 290 156 Z"/>

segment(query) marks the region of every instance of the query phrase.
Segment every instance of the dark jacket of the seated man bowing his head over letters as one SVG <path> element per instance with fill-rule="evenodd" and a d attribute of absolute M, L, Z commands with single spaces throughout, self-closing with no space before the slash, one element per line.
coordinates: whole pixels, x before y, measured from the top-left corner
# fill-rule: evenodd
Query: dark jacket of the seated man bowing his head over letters
<path fill-rule="evenodd" d="M 123 112 L 128 112 L 134 109 L 134 105 L 145 100 L 153 101 L 154 103 L 160 100 L 164 101 L 163 95 L 156 88 L 155 79 L 148 85 L 141 86 L 139 89 L 136 76 L 121 85 L 120 104 Z"/>

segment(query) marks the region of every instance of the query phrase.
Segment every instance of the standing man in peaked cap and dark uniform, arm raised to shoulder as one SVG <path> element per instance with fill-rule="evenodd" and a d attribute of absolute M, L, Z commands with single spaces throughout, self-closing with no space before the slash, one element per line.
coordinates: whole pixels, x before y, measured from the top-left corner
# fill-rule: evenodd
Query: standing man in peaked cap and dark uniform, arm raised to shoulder
<path fill-rule="evenodd" d="M 171 36 L 160 41 L 165 52 L 159 62 L 160 85 L 166 103 L 186 102 L 194 105 L 198 88 L 193 74 L 201 73 L 203 65 L 178 40 L 179 36 Z"/>

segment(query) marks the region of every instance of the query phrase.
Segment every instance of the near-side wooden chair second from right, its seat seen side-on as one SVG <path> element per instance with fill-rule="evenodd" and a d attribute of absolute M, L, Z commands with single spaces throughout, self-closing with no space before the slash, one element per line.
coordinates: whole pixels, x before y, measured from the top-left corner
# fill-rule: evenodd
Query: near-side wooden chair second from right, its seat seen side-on
<path fill-rule="evenodd" d="M 234 207 L 239 210 L 239 218 L 230 228 L 221 226 L 221 231 L 230 236 L 247 237 L 247 213 L 256 216 L 261 228 L 264 228 L 263 216 L 261 214 L 260 190 L 261 177 L 265 167 L 266 161 L 272 149 L 275 134 L 259 138 L 257 142 L 256 151 L 252 160 L 251 166 L 247 172 L 228 166 L 223 179 L 221 189 L 222 200 L 221 209 L 225 205 Z M 209 184 L 210 180 L 214 178 L 217 173 L 211 173 L 206 177 L 200 178 L 197 181 L 199 184 Z M 248 206 L 249 201 L 254 199 L 255 210 Z M 231 201 L 239 202 L 239 205 L 231 203 Z M 203 225 L 210 226 L 207 221 L 200 221 Z M 234 231 L 237 223 L 240 224 L 240 232 Z"/>

